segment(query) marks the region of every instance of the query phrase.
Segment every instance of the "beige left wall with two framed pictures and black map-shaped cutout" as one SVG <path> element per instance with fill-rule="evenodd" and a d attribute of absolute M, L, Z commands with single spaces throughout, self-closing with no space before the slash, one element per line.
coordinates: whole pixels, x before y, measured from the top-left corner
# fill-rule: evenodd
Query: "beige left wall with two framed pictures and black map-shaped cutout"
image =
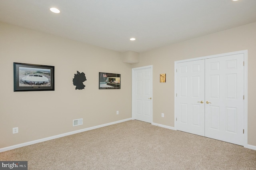
<path fill-rule="evenodd" d="M 55 91 L 14 92 L 13 62 L 55 66 Z M 121 89 L 99 90 L 99 72 L 120 73 Z M 131 64 L 116 51 L 0 23 L 0 78 L 0 148 L 131 118 Z"/>

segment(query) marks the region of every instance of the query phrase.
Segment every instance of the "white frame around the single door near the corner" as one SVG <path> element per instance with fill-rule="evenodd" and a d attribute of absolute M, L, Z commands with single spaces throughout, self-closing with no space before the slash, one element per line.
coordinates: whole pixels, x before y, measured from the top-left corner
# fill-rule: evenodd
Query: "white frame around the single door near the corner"
<path fill-rule="evenodd" d="M 136 68 L 132 68 L 132 119 L 135 119 L 135 114 L 136 114 L 136 101 L 135 101 L 135 89 L 136 89 L 136 81 L 135 81 L 135 71 L 137 70 L 141 70 L 141 69 L 150 69 L 150 75 L 151 75 L 151 87 L 150 87 L 150 91 L 152 94 L 152 99 L 151 99 L 151 108 L 150 108 L 150 123 L 153 123 L 153 65 L 148 65 L 148 66 L 144 66 L 144 67 L 136 67 Z"/>

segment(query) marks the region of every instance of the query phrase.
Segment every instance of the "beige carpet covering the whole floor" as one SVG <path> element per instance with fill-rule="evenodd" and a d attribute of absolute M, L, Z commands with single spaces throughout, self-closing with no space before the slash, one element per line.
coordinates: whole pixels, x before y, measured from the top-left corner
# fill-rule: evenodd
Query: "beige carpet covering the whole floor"
<path fill-rule="evenodd" d="M 29 170 L 256 170 L 256 150 L 126 121 L 0 153 Z"/>

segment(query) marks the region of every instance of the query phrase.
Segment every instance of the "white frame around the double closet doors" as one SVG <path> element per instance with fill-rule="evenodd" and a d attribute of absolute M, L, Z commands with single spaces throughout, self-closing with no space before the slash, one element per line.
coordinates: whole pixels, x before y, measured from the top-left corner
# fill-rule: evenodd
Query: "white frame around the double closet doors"
<path fill-rule="evenodd" d="M 236 55 L 236 54 L 244 54 L 244 147 L 248 148 L 248 50 L 242 50 L 242 51 L 234 51 L 230 53 L 222 53 L 217 55 L 209 55 L 205 57 L 197 57 L 192 59 L 184 59 L 179 61 L 174 61 L 174 129 L 177 130 L 176 126 L 176 119 L 177 119 L 177 108 L 176 108 L 176 64 L 177 63 L 183 63 L 187 61 L 196 61 L 200 59 L 209 59 L 209 58 L 215 58 L 215 57 L 225 57 L 228 55 Z"/>

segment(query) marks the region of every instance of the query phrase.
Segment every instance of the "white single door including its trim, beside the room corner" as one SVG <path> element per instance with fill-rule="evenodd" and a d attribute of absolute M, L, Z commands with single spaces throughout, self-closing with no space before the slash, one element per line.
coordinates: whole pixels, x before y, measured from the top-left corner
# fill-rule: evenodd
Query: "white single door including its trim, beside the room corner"
<path fill-rule="evenodd" d="M 133 117 L 152 123 L 152 67 L 133 71 Z"/>

